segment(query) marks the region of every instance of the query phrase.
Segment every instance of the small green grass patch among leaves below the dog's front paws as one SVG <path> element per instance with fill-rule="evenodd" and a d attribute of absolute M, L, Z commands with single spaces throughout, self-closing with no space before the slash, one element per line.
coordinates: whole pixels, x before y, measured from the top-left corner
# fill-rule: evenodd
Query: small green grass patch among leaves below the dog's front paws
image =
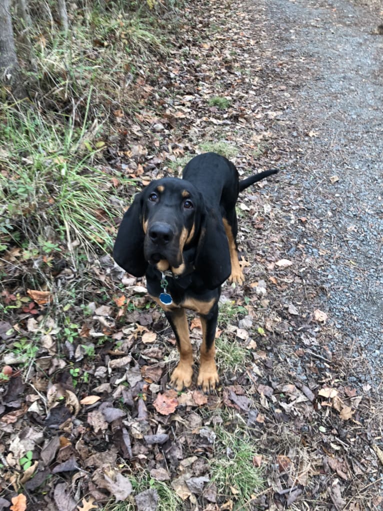
<path fill-rule="evenodd" d="M 241 417 L 240 419 L 243 421 Z M 220 497 L 225 500 L 233 499 L 244 505 L 265 484 L 262 471 L 253 464 L 257 452 L 252 437 L 245 423 L 239 424 L 236 418 L 216 426 L 214 432 L 217 437 L 214 442 L 214 457 L 209 463 L 211 482 L 217 485 Z"/>

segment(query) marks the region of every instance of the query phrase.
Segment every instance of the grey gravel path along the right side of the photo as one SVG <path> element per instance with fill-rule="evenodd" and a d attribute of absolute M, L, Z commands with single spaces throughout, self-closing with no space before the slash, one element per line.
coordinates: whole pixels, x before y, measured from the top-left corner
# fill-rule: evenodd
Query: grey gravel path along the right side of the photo
<path fill-rule="evenodd" d="M 301 208 L 315 226 L 311 237 L 293 233 L 291 253 L 303 245 L 317 260 L 323 307 L 345 345 L 367 359 L 360 382 L 376 388 L 383 361 L 379 18 L 347 0 L 272 0 L 250 8 L 262 20 L 260 43 L 274 72 L 279 68 L 276 87 L 289 103 L 284 135 L 298 146 L 284 192 L 301 187 Z"/>

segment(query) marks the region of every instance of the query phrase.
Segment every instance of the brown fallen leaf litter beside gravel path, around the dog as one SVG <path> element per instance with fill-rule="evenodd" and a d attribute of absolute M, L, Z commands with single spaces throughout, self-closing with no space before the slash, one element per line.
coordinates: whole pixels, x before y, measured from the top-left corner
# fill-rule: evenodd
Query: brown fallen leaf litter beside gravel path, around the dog
<path fill-rule="evenodd" d="M 136 120 L 115 113 L 126 135 L 113 165 L 137 182 L 178 175 L 180 160 L 200 151 L 202 140 L 224 141 L 240 173 L 268 169 L 299 153 L 281 128 L 288 126 L 283 112 L 292 104 L 280 94 L 278 73 L 286 62 L 270 64 L 258 52 L 257 38 L 271 36 L 260 28 L 255 37 L 246 3 L 236 4 L 233 19 L 227 16 L 232 9 L 214 0 L 189 6 L 193 25 L 178 34 L 184 55 L 172 50 L 168 60 L 156 63 L 156 80 L 149 74 L 137 79 Z M 215 24 L 222 30 L 212 31 Z M 289 73 L 297 80 L 294 65 Z M 222 110 L 209 106 L 217 91 L 228 100 Z M 5 303 L 19 305 L 19 312 L 0 323 L 0 335 L 19 353 L 10 361 L 4 357 L 0 380 L 0 509 L 24 511 L 28 496 L 28 506 L 49 502 L 58 511 L 101 508 L 110 501 L 154 510 L 160 486 L 152 487 L 151 478 L 176 493 L 177 509 L 378 508 L 383 456 L 375 438 L 381 412 L 371 387 L 348 386 L 350 361 L 329 350 L 329 339 L 341 339 L 320 308 L 317 262 L 289 253 L 296 214 L 307 235 L 316 219 L 302 216 L 299 195 L 286 203 L 285 216 L 281 201 L 288 199 L 278 196 L 277 187 L 270 180 L 240 198 L 246 282 L 223 288 L 223 298 L 234 305 L 231 315 L 220 317 L 228 360 L 219 359 L 222 388 L 216 394 L 166 389 L 176 361 L 174 336 L 150 304 L 145 280 L 125 275 L 110 258 L 94 264 L 94 284 L 87 290 L 91 314 L 79 314 L 76 304 L 73 329 L 46 315 L 54 286 L 3 291 Z M 17 258 L 13 251 L 10 259 Z M 61 277 L 55 276 L 56 284 Z M 100 297 L 101 283 L 112 290 L 108 304 Z M 198 321 L 192 325 L 195 352 L 199 327 Z M 63 342 L 64 328 L 77 335 Z M 30 342 L 17 346 L 20 337 Z M 233 343 L 245 353 L 236 365 Z M 19 364 L 32 356 L 35 364 L 21 375 Z M 221 424 L 233 437 L 239 431 L 248 439 L 252 464 L 263 474 L 261 489 L 253 487 L 246 502 L 238 500 L 234 480 L 220 493 L 210 470 L 212 460 L 222 459 L 224 466 L 233 452 L 216 434 Z M 25 470 L 20 459 L 28 452 L 33 465 Z"/>

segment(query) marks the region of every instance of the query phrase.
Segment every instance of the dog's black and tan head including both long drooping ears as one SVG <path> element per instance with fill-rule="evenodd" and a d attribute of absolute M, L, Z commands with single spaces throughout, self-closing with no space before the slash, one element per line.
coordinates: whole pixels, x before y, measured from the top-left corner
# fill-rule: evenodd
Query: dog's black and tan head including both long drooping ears
<path fill-rule="evenodd" d="M 119 227 L 113 257 L 135 276 L 145 274 L 148 264 L 159 271 L 171 270 L 176 276 L 193 266 L 210 289 L 230 274 L 222 219 L 185 179 L 152 181 L 135 196 Z"/>

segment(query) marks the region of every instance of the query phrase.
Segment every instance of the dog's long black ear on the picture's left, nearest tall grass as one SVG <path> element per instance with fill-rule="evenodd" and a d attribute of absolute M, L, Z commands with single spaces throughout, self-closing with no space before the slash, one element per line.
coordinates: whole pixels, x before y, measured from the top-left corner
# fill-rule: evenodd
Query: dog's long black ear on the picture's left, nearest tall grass
<path fill-rule="evenodd" d="M 113 259 L 128 273 L 142 277 L 148 267 L 143 257 L 142 194 L 135 196 L 118 228 L 113 247 Z"/>

